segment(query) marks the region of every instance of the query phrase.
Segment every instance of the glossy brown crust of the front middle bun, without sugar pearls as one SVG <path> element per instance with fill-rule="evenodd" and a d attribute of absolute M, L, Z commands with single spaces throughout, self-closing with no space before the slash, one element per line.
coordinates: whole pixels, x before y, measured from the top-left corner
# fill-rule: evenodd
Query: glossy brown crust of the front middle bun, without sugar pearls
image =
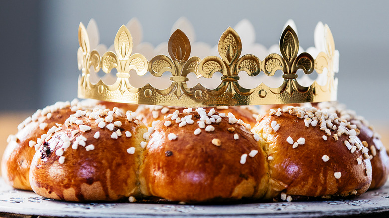
<path fill-rule="evenodd" d="M 268 180 L 267 166 L 265 154 L 253 135 L 241 125 L 229 124 L 227 117 L 211 124 L 214 131 L 202 128 L 201 133 L 195 135 L 200 116 L 190 112 L 178 117 L 182 119 L 187 115 L 192 115 L 194 124 L 179 127 L 170 117 L 156 124 L 141 166 L 142 194 L 183 202 L 263 196 Z M 165 126 L 165 122 L 171 124 Z M 169 134 L 175 134 L 177 139 L 170 140 Z M 239 139 L 235 140 L 234 134 Z M 241 156 L 252 150 L 258 153 L 248 156 L 241 164 Z"/>

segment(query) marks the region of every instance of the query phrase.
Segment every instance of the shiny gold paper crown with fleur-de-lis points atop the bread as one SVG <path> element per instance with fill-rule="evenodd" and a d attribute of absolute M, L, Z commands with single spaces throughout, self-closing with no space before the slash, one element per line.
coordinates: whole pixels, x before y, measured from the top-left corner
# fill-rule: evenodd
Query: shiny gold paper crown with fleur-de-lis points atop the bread
<path fill-rule="evenodd" d="M 315 31 L 316 34 L 316 31 Z M 148 61 L 142 54 L 131 54 L 132 37 L 126 26 L 121 26 L 114 41 L 115 52 L 107 51 L 102 56 L 90 49 L 89 37 L 82 23 L 78 29 L 78 68 L 82 75 L 78 80 L 78 97 L 103 101 L 135 103 L 147 105 L 167 105 L 182 107 L 228 106 L 228 105 L 264 105 L 290 104 L 302 102 L 335 101 L 337 82 L 334 80 L 335 45 L 330 29 L 324 26 L 324 51 L 316 59 L 309 53 L 298 55 L 299 40 L 296 32 L 288 25 L 280 39 L 281 55 L 269 54 L 263 61 L 252 54 L 241 56 L 242 43 L 239 35 L 229 27 L 221 35 L 218 43 L 220 57 L 207 56 L 204 59 L 190 57 L 191 44 L 188 37 L 177 29 L 168 42 L 166 55 L 157 55 Z M 112 85 L 101 79 L 97 83 L 90 81 L 90 70 L 98 72 L 100 68 L 110 74 L 116 68 L 117 79 Z M 310 86 L 302 86 L 297 82 L 297 70 L 305 74 L 316 70 L 322 74 L 327 69 L 327 82 L 319 85 L 314 81 Z M 133 87 L 130 82 L 130 70 L 140 76 L 147 71 L 154 77 L 161 77 L 166 71 L 172 76 L 171 85 L 166 89 L 156 89 L 149 83 L 141 88 Z M 264 83 L 256 88 L 246 89 L 239 85 L 238 73 L 247 72 L 251 77 L 263 72 L 273 76 L 276 70 L 283 72 L 283 83 L 278 88 L 271 88 Z M 213 73 L 220 72 L 221 83 L 216 89 L 205 88 L 200 83 L 189 88 L 189 73 L 197 78 L 211 78 Z"/>

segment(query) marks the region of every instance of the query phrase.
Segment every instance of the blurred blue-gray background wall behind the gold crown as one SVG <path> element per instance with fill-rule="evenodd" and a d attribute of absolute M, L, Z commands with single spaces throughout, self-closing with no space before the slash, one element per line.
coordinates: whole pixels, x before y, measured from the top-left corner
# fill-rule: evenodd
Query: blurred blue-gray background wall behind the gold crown
<path fill-rule="evenodd" d="M 122 24 L 137 17 L 143 41 L 167 41 L 174 22 L 185 16 L 197 40 L 215 45 L 228 26 L 247 18 L 256 42 L 278 43 L 294 19 L 300 45 L 314 45 L 318 21 L 327 23 L 340 51 L 338 100 L 374 121 L 389 121 L 389 3 L 384 0 L 1 0 L 0 111 L 34 111 L 77 95 L 77 31 L 94 18 L 100 42 L 113 43 Z"/>

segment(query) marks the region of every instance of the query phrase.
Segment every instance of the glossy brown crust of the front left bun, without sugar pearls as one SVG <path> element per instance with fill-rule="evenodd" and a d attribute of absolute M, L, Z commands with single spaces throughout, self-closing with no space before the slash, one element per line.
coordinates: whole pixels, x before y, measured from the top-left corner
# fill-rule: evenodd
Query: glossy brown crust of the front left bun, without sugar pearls
<path fill-rule="evenodd" d="M 128 121 L 124 114 L 113 114 L 111 122 L 120 121 L 121 125 L 112 130 L 108 129 L 106 120 L 101 121 L 106 126 L 100 128 L 95 119 L 86 116 L 77 119 L 91 129 L 83 132 L 81 125 L 63 125 L 43 142 L 31 164 L 32 189 L 44 197 L 66 201 L 114 201 L 139 194 L 136 181 L 143 150 L 140 142 L 144 141 L 143 133 L 147 128 L 138 120 Z M 118 129 L 122 135 L 111 138 Z M 126 131 L 131 133 L 130 137 L 126 136 Z M 97 139 L 96 132 L 99 132 Z M 81 135 L 86 138 L 85 147 L 79 143 L 74 149 L 73 144 L 82 140 Z M 65 145 L 67 140 L 70 140 L 69 147 Z M 94 146 L 92 150 L 89 145 Z M 135 148 L 133 154 L 127 151 L 131 147 Z M 63 154 L 58 150 L 63 150 Z M 61 156 L 65 158 L 63 163 Z"/>

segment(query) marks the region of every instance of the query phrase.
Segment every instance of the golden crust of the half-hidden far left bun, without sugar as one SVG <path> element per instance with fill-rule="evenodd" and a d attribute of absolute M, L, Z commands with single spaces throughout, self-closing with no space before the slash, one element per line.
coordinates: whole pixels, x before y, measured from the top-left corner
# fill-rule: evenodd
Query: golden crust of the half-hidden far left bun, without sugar
<path fill-rule="evenodd" d="M 38 111 L 35 114 L 36 120 L 26 123 L 25 127 L 18 131 L 15 135 L 17 140 L 9 142 L 2 157 L 2 177 L 8 184 L 16 189 L 32 190 L 28 175 L 35 148 L 30 147 L 29 142 L 36 142 L 55 123 L 63 123 L 72 113 L 70 104 L 63 109 L 51 112 L 50 118 L 47 114 L 42 115 L 41 111 Z M 42 123 L 47 124 L 43 129 L 39 127 Z"/>

